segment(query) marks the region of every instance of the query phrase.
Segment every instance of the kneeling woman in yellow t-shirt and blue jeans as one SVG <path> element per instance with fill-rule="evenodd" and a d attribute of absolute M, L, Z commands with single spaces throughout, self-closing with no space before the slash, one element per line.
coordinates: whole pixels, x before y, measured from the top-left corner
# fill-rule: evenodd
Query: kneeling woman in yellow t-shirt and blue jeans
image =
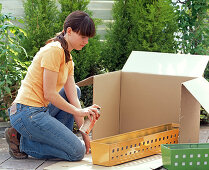
<path fill-rule="evenodd" d="M 5 136 L 14 158 L 30 155 L 78 161 L 85 152 L 89 153 L 89 136 L 82 134 L 84 146 L 72 132 L 73 122 L 80 127 L 85 116 L 97 119 L 99 106 L 81 108 L 70 52 L 81 50 L 88 43 L 95 35 L 95 25 L 88 14 L 75 11 L 63 27 L 36 54 L 8 109 L 12 127 L 5 130 Z"/>

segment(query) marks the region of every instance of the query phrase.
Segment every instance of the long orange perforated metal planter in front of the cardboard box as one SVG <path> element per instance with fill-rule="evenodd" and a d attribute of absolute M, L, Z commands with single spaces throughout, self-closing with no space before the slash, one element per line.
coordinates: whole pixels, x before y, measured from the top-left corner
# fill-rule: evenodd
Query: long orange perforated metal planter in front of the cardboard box
<path fill-rule="evenodd" d="M 93 164 L 113 166 L 161 152 L 161 144 L 178 143 L 179 125 L 165 124 L 91 142 Z"/>

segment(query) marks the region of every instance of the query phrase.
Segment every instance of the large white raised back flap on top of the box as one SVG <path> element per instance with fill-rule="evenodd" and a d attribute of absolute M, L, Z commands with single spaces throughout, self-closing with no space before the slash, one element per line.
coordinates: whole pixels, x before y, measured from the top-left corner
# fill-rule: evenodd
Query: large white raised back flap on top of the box
<path fill-rule="evenodd" d="M 202 77 L 209 56 L 133 51 L 123 72 Z"/>

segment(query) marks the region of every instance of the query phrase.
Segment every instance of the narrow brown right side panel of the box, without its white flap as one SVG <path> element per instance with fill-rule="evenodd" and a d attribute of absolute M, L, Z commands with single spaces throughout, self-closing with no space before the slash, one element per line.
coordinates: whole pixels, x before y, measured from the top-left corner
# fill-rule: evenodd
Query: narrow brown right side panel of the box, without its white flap
<path fill-rule="evenodd" d="M 200 104 L 182 86 L 180 114 L 180 143 L 198 143 L 200 129 Z"/>

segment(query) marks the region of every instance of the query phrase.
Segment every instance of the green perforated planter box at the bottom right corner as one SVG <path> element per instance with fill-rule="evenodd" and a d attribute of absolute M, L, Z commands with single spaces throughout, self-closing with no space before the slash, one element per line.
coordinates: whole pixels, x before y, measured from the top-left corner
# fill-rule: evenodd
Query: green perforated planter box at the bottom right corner
<path fill-rule="evenodd" d="M 168 170 L 209 170 L 209 143 L 162 144 L 161 152 Z"/>

